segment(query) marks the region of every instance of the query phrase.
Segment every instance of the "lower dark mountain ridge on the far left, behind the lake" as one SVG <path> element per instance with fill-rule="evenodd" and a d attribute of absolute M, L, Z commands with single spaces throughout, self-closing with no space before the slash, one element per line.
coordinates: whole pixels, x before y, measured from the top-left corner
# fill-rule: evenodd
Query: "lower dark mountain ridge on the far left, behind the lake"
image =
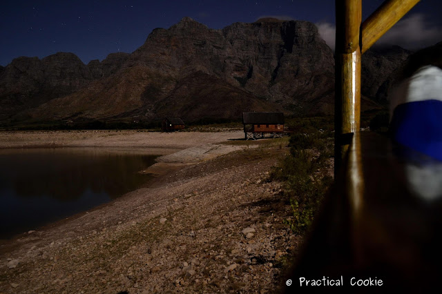
<path fill-rule="evenodd" d="M 58 52 L 43 59 L 19 57 L 0 72 L 0 119 L 70 95 L 108 77 L 126 60 L 127 53 L 109 55 L 88 66 L 73 53 Z"/>

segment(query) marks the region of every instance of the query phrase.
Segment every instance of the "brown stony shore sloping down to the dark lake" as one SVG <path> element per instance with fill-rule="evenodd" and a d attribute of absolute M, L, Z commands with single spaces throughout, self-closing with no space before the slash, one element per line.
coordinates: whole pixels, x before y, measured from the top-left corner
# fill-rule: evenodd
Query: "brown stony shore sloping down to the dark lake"
<path fill-rule="evenodd" d="M 110 204 L 2 242 L 0 293 L 281 291 L 301 238 L 284 224 L 281 184 L 267 179 L 287 144 L 251 144 L 174 162 Z"/>

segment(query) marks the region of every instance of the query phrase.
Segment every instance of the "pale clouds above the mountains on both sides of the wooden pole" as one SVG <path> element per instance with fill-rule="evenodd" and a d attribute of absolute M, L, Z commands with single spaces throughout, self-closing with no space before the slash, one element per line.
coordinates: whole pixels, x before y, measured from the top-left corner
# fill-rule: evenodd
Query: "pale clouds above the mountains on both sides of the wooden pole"
<path fill-rule="evenodd" d="M 334 23 L 316 23 L 319 35 L 334 50 L 336 26 Z M 398 21 L 374 46 L 397 45 L 406 49 L 421 49 L 442 41 L 442 28 L 432 26 L 423 14 L 412 14 Z"/>

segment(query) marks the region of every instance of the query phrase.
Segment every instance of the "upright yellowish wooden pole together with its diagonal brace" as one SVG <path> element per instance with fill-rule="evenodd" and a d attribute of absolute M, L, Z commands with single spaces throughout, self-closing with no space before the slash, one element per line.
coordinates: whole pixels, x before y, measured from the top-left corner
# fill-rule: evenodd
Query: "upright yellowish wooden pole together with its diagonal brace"
<path fill-rule="evenodd" d="M 419 0 L 387 0 L 361 24 L 362 0 L 336 0 L 335 173 L 361 128 L 361 55 Z"/>

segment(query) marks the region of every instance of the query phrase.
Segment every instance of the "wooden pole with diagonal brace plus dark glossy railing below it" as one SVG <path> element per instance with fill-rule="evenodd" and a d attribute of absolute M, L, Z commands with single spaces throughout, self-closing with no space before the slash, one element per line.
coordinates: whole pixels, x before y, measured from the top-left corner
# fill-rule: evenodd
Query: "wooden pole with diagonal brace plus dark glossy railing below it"
<path fill-rule="evenodd" d="M 425 195 L 429 187 L 415 179 L 441 163 L 360 132 L 361 55 L 418 2 L 385 1 L 361 23 L 361 0 L 336 0 L 335 182 L 296 258 L 289 293 L 442 288 L 442 202 Z"/>

